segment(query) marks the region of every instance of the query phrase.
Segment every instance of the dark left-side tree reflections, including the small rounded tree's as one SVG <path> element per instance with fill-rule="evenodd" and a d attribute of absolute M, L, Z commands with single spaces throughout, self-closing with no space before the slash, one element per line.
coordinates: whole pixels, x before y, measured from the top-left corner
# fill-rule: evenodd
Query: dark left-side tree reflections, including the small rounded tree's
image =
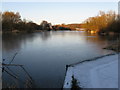
<path fill-rule="evenodd" d="M 35 38 L 41 37 L 41 39 L 47 40 L 51 36 L 50 32 L 30 33 L 30 34 L 4 34 L 2 38 L 3 51 L 20 50 L 22 45 L 27 42 L 33 42 Z"/>

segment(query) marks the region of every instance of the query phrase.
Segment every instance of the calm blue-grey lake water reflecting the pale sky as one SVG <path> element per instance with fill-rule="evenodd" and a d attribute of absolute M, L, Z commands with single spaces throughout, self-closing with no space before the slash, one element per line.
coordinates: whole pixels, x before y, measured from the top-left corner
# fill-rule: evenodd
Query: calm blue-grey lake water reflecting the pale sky
<path fill-rule="evenodd" d="M 67 64 L 111 53 L 102 49 L 111 42 L 111 39 L 81 31 L 5 34 L 3 58 L 4 63 L 9 63 L 17 52 L 12 63 L 24 65 L 33 78 L 35 87 L 60 88 L 64 82 Z M 24 73 L 19 67 L 11 69 L 24 80 Z M 5 72 L 3 80 L 10 85 L 15 83 L 15 80 Z"/>

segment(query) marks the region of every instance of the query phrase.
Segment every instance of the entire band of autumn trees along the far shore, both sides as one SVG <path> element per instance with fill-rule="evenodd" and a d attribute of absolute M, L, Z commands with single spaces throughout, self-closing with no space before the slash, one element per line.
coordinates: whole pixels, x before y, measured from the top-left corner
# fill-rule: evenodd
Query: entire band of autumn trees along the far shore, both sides
<path fill-rule="evenodd" d="M 92 31 L 100 35 L 120 33 L 120 18 L 114 11 L 100 11 L 97 16 L 90 17 L 80 24 L 59 24 L 52 25 L 42 21 L 39 25 L 33 21 L 21 19 L 19 12 L 5 11 L 2 14 L 3 32 L 34 32 L 50 30 L 82 30 Z"/>

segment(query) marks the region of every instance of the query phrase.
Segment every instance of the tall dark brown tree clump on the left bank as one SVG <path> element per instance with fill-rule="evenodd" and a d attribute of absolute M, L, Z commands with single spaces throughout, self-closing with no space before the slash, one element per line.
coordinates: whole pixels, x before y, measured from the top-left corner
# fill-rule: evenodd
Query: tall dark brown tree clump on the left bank
<path fill-rule="evenodd" d="M 40 26 L 32 21 L 27 21 L 26 19 L 21 19 L 19 12 L 9 12 L 5 11 L 2 13 L 2 32 L 13 32 L 26 31 L 32 32 L 33 30 L 39 29 Z"/>

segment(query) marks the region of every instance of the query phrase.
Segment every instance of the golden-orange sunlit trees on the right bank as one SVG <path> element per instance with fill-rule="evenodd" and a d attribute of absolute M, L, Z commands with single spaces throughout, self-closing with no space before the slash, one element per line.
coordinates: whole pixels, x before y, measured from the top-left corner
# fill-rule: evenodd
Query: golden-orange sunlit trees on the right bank
<path fill-rule="evenodd" d="M 98 33 L 120 33 L 120 18 L 114 11 L 100 11 L 95 17 L 90 17 L 82 25 L 86 31 L 94 30 Z"/>

